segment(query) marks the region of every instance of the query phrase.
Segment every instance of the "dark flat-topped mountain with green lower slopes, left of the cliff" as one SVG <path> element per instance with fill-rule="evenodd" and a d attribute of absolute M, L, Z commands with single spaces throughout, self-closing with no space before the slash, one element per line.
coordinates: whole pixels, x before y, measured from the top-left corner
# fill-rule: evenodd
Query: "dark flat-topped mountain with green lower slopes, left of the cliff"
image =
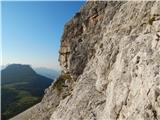
<path fill-rule="evenodd" d="M 2 120 L 40 102 L 52 79 L 37 74 L 29 65 L 11 64 L 1 71 Z"/>

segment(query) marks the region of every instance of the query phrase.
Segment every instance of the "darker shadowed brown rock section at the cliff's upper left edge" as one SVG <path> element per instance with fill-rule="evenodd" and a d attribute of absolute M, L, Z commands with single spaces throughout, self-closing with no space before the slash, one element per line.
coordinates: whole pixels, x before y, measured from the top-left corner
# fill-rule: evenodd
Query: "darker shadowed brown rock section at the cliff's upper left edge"
<path fill-rule="evenodd" d="M 75 78 L 82 74 L 95 54 L 94 46 L 102 39 L 102 19 L 106 2 L 88 2 L 65 25 L 60 48 L 60 65 Z"/>

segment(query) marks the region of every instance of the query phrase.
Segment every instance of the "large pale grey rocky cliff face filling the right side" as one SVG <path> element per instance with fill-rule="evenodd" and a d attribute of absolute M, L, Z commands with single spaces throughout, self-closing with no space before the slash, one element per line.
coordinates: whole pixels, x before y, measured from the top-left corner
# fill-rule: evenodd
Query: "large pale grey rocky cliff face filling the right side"
<path fill-rule="evenodd" d="M 160 120 L 160 2 L 87 2 L 36 120 Z"/>

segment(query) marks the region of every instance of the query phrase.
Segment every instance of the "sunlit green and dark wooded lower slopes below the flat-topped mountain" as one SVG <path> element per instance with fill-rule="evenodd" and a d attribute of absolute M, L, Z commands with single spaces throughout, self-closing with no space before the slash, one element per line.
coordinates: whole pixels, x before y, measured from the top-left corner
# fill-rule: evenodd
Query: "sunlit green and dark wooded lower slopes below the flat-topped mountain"
<path fill-rule="evenodd" d="M 2 120 L 11 118 L 39 102 L 41 97 L 34 97 L 27 91 L 2 87 Z"/>

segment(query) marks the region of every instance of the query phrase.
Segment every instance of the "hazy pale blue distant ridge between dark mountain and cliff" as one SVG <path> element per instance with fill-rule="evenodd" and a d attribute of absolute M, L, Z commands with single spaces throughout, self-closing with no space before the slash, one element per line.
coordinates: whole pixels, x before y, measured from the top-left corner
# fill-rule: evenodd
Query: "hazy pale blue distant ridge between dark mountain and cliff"
<path fill-rule="evenodd" d="M 49 69 L 45 67 L 33 68 L 38 74 L 50 79 L 56 79 L 60 75 L 60 70 Z"/>

